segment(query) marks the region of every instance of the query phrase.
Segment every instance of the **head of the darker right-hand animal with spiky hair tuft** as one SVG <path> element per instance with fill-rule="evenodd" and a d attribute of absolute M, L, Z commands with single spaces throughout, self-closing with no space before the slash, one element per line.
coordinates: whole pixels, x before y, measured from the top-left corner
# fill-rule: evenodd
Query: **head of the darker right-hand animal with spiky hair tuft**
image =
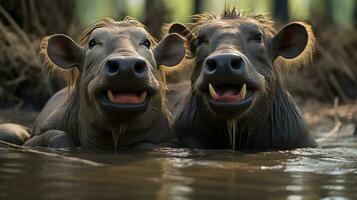
<path fill-rule="evenodd" d="M 169 32 L 190 40 L 192 91 L 202 110 L 225 119 L 264 114 L 280 87 L 277 60 L 290 67 L 311 59 L 314 36 L 309 25 L 293 22 L 276 32 L 264 15 L 226 8 L 221 17 L 205 13 L 186 28 Z M 279 86 L 278 86 L 279 85 Z"/>

